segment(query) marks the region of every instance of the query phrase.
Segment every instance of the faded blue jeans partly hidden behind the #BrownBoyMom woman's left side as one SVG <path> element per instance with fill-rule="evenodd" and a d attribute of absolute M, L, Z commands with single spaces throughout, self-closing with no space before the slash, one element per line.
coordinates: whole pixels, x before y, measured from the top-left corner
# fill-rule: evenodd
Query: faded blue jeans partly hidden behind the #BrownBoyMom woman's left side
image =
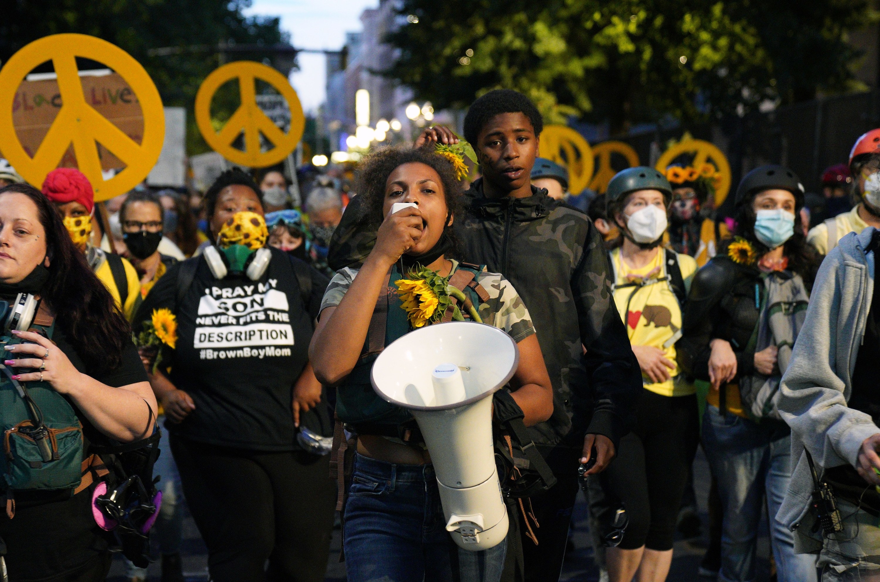
<path fill-rule="evenodd" d="M 157 422 L 162 427 L 162 440 L 159 440 L 159 458 L 153 466 L 153 475 L 162 477 L 157 487 L 162 491 L 162 506 L 153 525 L 151 534 L 158 540 L 159 552 L 162 554 L 179 554 L 183 539 L 183 489 L 180 487 L 180 473 L 171 454 L 168 443 L 168 430 L 165 428 L 165 417 Z M 125 561 L 125 578 L 147 578 L 147 569 L 138 568 L 128 560 Z"/>

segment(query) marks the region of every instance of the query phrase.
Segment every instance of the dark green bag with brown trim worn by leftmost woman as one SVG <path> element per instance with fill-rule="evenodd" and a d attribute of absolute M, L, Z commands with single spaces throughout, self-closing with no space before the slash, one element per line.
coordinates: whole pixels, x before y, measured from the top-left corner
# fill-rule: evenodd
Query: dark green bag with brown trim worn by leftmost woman
<path fill-rule="evenodd" d="M 55 317 L 40 309 L 28 331 L 52 338 Z M 20 344 L 3 331 L 0 346 Z M 3 360 L 11 357 L 3 350 Z M 73 406 L 48 382 L 18 382 L 9 367 L 0 364 L 0 430 L 6 491 L 6 513 L 15 514 L 15 491 L 74 490 L 82 480 L 83 427 Z"/>

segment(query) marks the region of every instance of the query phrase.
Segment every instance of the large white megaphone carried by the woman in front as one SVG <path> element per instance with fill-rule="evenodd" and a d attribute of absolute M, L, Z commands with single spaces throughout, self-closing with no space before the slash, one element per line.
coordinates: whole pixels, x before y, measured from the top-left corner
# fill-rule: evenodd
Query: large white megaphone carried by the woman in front
<path fill-rule="evenodd" d="M 407 333 L 373 363 L 373 389 L 411 411 L 419 424 L 434 463 L 446 530 L 464 549 L 489 549 L 507 535 L 491 396 L 518 363 L 519 350 L 509 335 L 473 322 Z"/>

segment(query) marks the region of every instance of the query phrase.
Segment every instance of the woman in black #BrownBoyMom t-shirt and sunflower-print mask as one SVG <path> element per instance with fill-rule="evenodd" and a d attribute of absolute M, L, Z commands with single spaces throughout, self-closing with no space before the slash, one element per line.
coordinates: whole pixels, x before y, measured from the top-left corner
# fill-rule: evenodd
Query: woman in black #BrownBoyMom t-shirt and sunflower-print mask
<path fill-rule="evenodd" d="M 217 178 L 205 204 L 216 244 L 172 266 L 135 318 L 177 317 L 171 370 L 150 382 L 187 505 L 215 582 L 319 582 L 335 486 L 329 456 L 300 447 L 297 430 L 304 412 L 324 411 L 308 347 L 328 281 L 265 245 L 260 189 L 245 173 Z M 266 258 L 264 272 L 251 268 Z"/>

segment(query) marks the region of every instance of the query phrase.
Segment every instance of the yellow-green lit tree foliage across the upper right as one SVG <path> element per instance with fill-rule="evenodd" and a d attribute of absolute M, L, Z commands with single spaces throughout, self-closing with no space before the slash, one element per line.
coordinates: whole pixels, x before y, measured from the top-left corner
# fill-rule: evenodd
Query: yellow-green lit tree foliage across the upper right
<path fill-rule="evenodd" d="M 510 87 L 548 121 L 612 132 L 851 89 L 847 30 L 875 18 L 869 0 L 405 0 L 400 16 L 385 73 L 418 98 L 463 107 Z"/>

